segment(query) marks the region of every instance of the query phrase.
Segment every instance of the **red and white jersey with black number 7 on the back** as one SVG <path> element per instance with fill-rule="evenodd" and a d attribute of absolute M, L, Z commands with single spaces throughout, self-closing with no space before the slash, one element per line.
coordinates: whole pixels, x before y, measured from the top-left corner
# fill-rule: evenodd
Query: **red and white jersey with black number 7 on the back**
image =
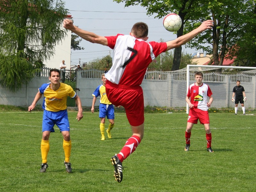
<path fill-rule="evenodd" d="M 108 47 L 114 51 L 113 65 L 105 77 L 114 84 L 140 85 L 150 62 L 167 49 L 165 42 L 146 42 L 130 35 L 117 34 L 106 38 Z"/>

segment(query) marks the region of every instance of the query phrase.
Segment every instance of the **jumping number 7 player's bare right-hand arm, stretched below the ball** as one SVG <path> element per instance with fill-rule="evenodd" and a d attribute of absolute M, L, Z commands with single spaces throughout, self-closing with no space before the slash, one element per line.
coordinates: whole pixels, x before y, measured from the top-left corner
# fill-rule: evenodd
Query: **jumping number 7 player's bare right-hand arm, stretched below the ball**
<path fill-rule="evenodd" d="M 189 42 L 191 39 L 193 39 L 195 36 L 197 36 L 199 33 L 205 31 L 206 29 L 212 29 L 213 27 L 213 20 L 206 20 L 204 21 L 198 28 L 194 29 L 193 31 L 190 31 L 189 33 L 178 37 L 175 40 L 167 41 L 167 51 L 176 47 L 180 47 L 181 45 Z"/>

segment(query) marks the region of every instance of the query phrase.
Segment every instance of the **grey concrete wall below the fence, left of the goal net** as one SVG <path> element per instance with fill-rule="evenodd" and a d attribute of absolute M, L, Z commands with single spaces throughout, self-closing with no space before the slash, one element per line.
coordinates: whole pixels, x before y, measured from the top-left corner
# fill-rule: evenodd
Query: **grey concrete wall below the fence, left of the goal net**
<path fill-rule="evenodd" d="M 20 91 L 13 93 L 8 91 L 5 87 L 0 85 L 0 104 L 14 105 L 14 106 L 29 106 L 33 102 L 38 88 L 48 83 L 48 77 L 35 77 L 28 84 L 23 85 Z M 81 98 L 83 107 L 92 106 L 92 93 L 98 85 L 102 84 L 100 78 L 77 78 L 77 95 Z M 141 84 L 144 92 L 144 104 L 145 106 L 166 106 L 166 81 L 154 81 L 144 80 Z M 95 106 L 99 105 L 99 98 L 96 101 Z M 41 98 L 37 105 L 42 105 L 43 99 Z"/>

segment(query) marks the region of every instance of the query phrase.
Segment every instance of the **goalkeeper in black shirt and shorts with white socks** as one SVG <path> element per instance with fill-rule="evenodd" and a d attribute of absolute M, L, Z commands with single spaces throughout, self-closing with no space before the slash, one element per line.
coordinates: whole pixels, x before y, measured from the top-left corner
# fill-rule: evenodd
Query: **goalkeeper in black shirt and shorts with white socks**
<path fill-rule="evenodd" d="M 236 98 L 234 99 L 234 96 Z M 232 102 L 235 102 L 235 115 L 237 114 L 238 103 L 240 102 L 243 110 L 243 114 L 245 115 L 245 107 L 244 102 L 246 101 L 244 87 L 240 85 L 240 81 L 236 81 L 236 86 L 233 88 Z"/>

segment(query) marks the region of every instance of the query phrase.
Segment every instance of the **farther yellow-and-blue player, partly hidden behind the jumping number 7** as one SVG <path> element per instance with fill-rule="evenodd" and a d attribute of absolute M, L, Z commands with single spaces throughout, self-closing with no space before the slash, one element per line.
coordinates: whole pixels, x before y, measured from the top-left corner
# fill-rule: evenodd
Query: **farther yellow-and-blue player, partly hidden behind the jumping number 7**
<path fill-rule="evenodd" d="M 103 84 L 99 85 L 95 91 L 93 92 L 93 100 L 92 100 L 92 113 L 94 113 L 94 105 L 97 100 L 97 97 L 100 96 L 100 132 L 101 132 L 101 140 L 105 140 L 105 119 L 106 116 L 109 121 L 108 125 L 108 138 L 111 139 L 111 129 L 114 127 L 114 119 L 115 119 L 115 114 L 114 114 L 114 106 L 113 104 L 108 100 L 108 97 L 106 95 L 106 78 L 105 78 L 105 73 L 101 75 L 101 81 Z"/>

